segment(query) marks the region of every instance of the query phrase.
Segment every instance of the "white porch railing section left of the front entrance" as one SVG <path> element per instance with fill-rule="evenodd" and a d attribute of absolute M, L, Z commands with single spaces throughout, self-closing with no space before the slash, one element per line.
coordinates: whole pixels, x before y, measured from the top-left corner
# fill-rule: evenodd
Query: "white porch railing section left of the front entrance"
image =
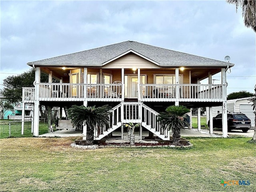
<path fill-rule="evenodd" d="M 39 83 L 36 86 L 39 87 L 41 101 L 122 100 L 122 84 Z M 25 101 L 29 100 L 28 95 L 32 93 L 35 98 L 35 93 L 31 89 L 23 88 L 23 92 Z"/>

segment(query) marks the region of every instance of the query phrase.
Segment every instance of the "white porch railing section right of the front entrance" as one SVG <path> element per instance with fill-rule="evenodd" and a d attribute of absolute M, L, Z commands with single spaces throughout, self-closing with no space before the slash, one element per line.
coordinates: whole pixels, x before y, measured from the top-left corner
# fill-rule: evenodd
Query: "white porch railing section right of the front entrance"
<path fill-rule="evenodd" d="M 225 84 L 140 84 L 141 101 L 222 102 Z M 225 92 L 223 92 L 225 90 Z"/>

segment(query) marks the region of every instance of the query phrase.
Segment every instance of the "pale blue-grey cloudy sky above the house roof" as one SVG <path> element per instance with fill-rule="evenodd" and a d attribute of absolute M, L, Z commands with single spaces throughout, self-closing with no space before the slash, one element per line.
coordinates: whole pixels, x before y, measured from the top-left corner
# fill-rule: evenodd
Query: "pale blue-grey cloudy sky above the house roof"
<path fill-rule="evenodd" d="M 0 9 L 0 88 L 7 76 L 29 70 L 28 62 L 134 40 L 221 61 L 228 55 L 235 64 L 228 94 L 254 92 L 255 33 L 224 0 L 1 0 Z M 213 79 L 220 83 L 220 74 Z"/>

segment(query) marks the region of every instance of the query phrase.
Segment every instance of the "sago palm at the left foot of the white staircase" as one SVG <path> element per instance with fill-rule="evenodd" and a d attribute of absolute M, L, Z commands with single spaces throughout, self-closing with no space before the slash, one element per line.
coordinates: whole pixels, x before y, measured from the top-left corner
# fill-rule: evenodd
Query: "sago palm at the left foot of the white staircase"
<path fill-rule="evenodd" d="M 86 124 L 86 144 L 92 145 L 94 140 L 94 127 L 100 126 L 109 127 L 109 110 L 111 108 L 108 105 L 101 107 L 86 107 L 73 105 L 68 110 L 68 117 L 71 119 L 72 124 L 75 127 Z"/>

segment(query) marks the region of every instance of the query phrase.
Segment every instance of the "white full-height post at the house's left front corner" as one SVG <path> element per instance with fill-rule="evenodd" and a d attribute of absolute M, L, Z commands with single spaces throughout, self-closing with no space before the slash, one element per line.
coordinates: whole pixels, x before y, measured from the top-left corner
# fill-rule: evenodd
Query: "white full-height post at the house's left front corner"
<path fill-rule="evenodd" d="M 39 135 L 39 83 L 40 83 L 40 67 L 36 67 L 35 74 L 35 105 L 34 105 L 34 133 L 33 135 L 38 137 Z"/>

